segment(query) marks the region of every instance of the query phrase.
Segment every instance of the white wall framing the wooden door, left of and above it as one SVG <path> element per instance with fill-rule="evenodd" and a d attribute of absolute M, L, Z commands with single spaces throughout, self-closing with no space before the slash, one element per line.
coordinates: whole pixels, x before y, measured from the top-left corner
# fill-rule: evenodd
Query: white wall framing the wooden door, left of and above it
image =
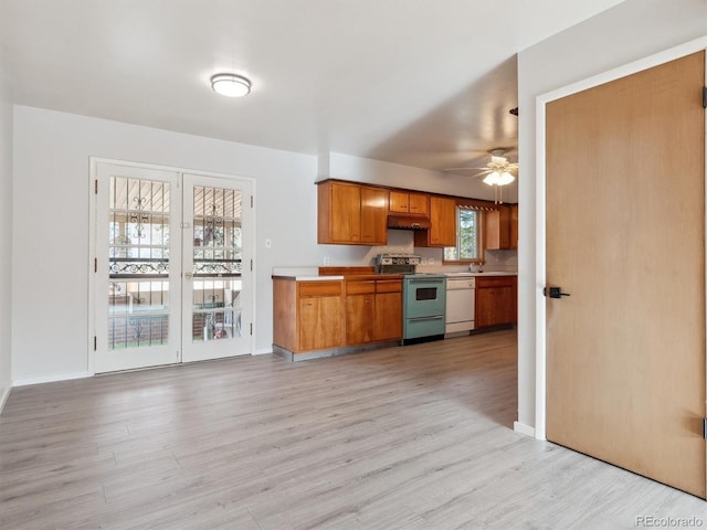
<path fill-rule="evenodd" d="M 707 35 L 705 0 L 626 0 L 518 56 L 518 422 L 536 424 L 536 97 Z M 640 176 L 637 176 L 640 177 Z"/>

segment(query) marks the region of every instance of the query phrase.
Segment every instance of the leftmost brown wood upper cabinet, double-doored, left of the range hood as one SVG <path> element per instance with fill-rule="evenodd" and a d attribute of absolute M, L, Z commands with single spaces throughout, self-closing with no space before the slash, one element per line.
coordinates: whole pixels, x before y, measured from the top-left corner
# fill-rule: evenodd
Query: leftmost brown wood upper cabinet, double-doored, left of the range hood
<path fill-rule="evenodd" d="M 317 200 L 319 244 L 388 243 L 388 190 L 326 180 L 318 183 Z"/>

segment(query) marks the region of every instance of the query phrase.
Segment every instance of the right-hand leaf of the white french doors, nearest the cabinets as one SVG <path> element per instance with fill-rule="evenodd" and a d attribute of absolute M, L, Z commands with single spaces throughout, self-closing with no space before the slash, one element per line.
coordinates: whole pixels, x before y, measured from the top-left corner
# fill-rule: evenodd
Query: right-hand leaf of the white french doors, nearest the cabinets
<path fill-rule="evenodd" d="M 247 181 L 183 176 L 184 362 L 252 351 L 250 198 Z"/>

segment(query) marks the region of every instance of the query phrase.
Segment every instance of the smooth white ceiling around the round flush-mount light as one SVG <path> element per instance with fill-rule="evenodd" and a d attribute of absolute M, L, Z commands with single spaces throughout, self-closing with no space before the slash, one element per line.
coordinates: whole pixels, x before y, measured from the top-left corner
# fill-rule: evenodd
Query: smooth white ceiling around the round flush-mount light
<path fill-rule="evenodd" d="M 516 53 L 616 3 L 0 0 L 0 62 L 19 105 L 439 170 L 516 149 Z"/>

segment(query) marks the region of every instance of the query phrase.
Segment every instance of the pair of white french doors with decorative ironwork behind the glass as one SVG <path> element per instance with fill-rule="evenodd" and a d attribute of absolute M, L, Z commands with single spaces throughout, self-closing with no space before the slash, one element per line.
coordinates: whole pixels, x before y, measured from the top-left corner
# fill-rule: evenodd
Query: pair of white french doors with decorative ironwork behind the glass
<path fill-rule="evenodd" d="M 94 371 L 253 351 L 252 183 L 96 163 Z"/>

